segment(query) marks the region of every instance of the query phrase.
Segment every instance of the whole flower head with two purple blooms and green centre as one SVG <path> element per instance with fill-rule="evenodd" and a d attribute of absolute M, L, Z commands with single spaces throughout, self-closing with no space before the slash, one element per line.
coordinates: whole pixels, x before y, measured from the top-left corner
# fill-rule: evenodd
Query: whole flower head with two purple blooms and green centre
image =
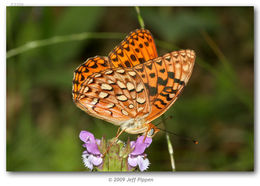
<path fill-rule="evenodd" d="M 136 141 L 130 141 L 126 145 L 118 145 L 116 143 L 114 144 L 115 149 L 119 150 L 110 150 L 105 156 L 103 154 L 106 152 L 107 146 L 104 145 L 104 140 L 95 139 L 94 135 L 88 131 L 81 131 L 79 138 L 84 142 L 83 147 L 86 149 L 82 154 L 84 165 L 90 170 L 93 170 L 95 167 L 100 171 L 130 171 L 135 170 L 137 166 L 140 171 L 148 169 L 150 162 L 144 151 L 152 143 L 152 138 L 140 136 Z M 108 161 L 113 161 L 113 163 L 107 163 Z M 114 167 L 111 167 L 112 165 Z M 124 169 L 122 167 L 124 165 L 127 168 Z"/>

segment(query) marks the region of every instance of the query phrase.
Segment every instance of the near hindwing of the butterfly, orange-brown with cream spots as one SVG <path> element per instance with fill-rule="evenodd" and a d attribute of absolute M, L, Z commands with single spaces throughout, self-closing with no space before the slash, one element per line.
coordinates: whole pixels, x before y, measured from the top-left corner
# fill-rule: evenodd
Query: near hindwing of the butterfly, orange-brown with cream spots
<path fill-rule="evenodd" d="M 79 95 L 78 107 L 116 125 L 147 116 L 151 110 L 141 78 L 129 68 L 94 73 L 82 84 Z"/>

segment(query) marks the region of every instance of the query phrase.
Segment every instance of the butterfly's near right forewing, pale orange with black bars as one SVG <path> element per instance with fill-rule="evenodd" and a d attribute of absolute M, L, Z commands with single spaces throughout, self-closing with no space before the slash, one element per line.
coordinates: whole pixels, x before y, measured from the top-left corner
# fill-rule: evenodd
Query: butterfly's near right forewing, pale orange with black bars
<path fill-rule="evenodd" d="M 146 118 L 148 123 L 161 116 L 177 100 L 190 79 L 195 57 L 193 50 L 180 50 L 152 60 L 156 70 L 152 72 L 155 74 L 153 79 L 148 81 L 156 82 L 157 86 L 152 90 L 155 92 L 153 95 L 150 91 L 152 84 L 147 84 L 151 102 L 151 113 Z"/>

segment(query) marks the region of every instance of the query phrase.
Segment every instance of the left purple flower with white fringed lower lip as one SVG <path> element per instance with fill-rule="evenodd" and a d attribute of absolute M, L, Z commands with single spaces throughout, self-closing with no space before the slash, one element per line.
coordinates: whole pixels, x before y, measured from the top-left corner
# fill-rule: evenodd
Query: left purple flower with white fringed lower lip
<path fill-rule="evenodd" d="M 84 142 L 83 147 L 86 148 L 86 151 L 82 154 L 84 165 L 90 170 L 93 169 L 93 166 L 101 165 L 103 162 L 102 154 L 97 146 L 100 145 L 100 140 L 95 139 L 94 135 L 87 131 L 81 131 L 79 138 Z"/>

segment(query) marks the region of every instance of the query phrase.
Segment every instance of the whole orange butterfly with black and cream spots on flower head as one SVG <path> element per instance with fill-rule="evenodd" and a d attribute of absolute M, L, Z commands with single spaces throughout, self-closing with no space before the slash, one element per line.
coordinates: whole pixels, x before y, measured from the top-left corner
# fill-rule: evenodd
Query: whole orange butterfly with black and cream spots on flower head
<path fill-rule="evenodd" d="M 189 49 L 158 57 L 150 31 L 137 29 L 107 57 L 89 58 L 74 71 L 73 101 L 122 131 L 152 137 L 160 129 L 151 122 L 177 100 L 194 63 Z"/>

